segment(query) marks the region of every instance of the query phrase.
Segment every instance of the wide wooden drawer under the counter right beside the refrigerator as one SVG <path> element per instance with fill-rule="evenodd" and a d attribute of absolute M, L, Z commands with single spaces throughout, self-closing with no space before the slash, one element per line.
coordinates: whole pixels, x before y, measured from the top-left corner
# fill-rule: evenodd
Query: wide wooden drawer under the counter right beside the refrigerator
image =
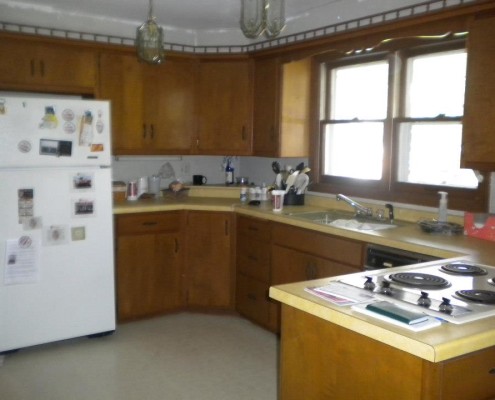
<path fill-rule="evenodd" d="M 117 234 L 179 231 L 180 212 L 140 213 L 117 216 Z"/>

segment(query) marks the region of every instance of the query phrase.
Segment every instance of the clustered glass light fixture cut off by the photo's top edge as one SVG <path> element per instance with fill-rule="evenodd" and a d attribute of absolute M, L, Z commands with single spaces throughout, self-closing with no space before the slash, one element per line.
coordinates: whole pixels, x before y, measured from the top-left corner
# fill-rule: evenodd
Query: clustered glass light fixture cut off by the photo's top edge
<path fill-rule="evenodd" d="M 241 30 L 255 39 L 272 38 L 285 28 L 285 0 L 241 0 Z"/>

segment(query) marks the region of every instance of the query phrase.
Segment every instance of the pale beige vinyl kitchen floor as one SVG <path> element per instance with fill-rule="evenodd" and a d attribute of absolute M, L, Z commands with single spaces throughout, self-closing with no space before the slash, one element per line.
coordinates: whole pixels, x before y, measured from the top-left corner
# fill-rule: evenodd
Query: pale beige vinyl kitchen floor
<path fill-rule="evenodd" d="M 276 335 L 232 315 L 180 313 L 4 356 L 2 400 L 276 400 Z"/>

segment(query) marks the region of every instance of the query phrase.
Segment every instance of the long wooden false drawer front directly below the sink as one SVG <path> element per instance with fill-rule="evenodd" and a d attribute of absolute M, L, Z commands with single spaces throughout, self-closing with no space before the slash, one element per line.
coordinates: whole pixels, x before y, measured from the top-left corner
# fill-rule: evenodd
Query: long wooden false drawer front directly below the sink
<path fill-rule="evenodd" d="M 358 268 L 364 265 L 363 244 L 354 240 L 282 224 L 273 225 L 273 239 L 276 244 L 314 256 Z"/>

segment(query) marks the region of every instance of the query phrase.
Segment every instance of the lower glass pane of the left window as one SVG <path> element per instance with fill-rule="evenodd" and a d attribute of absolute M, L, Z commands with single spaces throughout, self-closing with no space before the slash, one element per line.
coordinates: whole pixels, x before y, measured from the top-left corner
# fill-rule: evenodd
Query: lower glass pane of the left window
<path fill-rule="evenodd" d="M 381 179 L 383 123 L 328 124 L 324 140 L 325 175 Z"/>

